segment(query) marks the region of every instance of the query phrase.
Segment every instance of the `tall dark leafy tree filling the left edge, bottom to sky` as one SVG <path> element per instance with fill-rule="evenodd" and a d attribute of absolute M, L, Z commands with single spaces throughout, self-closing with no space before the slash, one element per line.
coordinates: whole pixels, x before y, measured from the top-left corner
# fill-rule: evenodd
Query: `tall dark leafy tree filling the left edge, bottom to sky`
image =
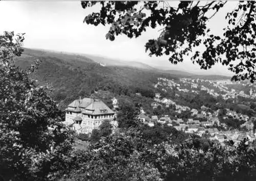
<path fill-rule="evenodd" d="M 62 111 L 29 75 L 36 64 L 20 70 L 13 64 L 22 53 L 22 36 L 1 38 L 0 61 L 0 175 L 12 180 L 56 179 L 72 163 L 72 131 L 64 127 Z"/>

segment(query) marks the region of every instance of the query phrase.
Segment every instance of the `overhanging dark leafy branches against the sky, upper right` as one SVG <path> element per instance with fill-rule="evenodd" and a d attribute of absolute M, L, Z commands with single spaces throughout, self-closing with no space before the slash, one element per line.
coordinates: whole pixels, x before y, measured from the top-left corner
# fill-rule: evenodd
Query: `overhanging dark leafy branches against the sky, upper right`
<path fill-rule="evenodd" d="M 226 2 L 182 1 L 176 6 L 165 1 L 81 2 L 84 9 L 97 4 L 101 5 L 100 11 L 87 15 L 84 22 L 111 25 L 106 39 L 113 41 L 121 34 L 139 37 L 148 27 L 163 27 L 157 39 L 145 44 L 150 56 L 167 55 L 174 64 L 189 56 L 205 70 L 220 62 L 233 72 L 232 80 L 253 82 L 256 78 L 255 2 L 240 1 L 226 14 L 222 36 L 213 34 L 207 22 L 227 6 Z M 202 51 L 198 47 L 203 47 Z"/>

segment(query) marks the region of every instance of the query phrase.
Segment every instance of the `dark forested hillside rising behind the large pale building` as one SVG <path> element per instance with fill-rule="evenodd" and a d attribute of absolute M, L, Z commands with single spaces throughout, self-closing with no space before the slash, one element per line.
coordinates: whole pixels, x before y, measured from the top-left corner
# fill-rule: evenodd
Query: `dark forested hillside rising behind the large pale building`
<path fill-rule="evenodd" d="M 78 96 L 90 96 L 98 89 L 127 96 L 140 92 L 151 97 L 154 96 L 153 83 L 156 83 L 158 77 L 174 78 L 154 70 L 101 66 L 80 55 L 31 49 L 25 49 L 23 55 L 16 59 L 16 64 L 25 69 L 36 59 L 41 60 L 41 63 L 33 77 L 39 84 L 52 83 L 52 96 L 63 106 Z"/>

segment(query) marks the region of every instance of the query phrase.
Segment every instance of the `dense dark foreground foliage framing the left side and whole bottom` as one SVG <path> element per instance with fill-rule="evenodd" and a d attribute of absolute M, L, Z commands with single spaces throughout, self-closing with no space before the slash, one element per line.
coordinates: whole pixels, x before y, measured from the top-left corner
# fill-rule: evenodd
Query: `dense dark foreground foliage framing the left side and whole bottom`
<path fill-rule="evenodd" d="M 0 57 L 0 175 L 5 180 L 255 179 L 256 151 L 247 140 L 222 147 L 166 125 L 143 126 L 124 110 L 118 132 L 109 135 L 105 124 L 103 137 L 75 150 L 72 131 L 60 123 L 62 112 L 47 87 L 29 78 L 35 66 L 22 71 L 13 65 L 20 52 L 13 33 L 0 38 L 6 48 Z"/>

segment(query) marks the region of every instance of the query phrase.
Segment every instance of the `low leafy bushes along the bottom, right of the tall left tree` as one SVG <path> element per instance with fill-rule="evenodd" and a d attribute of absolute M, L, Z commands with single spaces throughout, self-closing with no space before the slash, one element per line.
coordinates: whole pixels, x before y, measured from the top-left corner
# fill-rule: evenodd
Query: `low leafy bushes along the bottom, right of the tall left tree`
<path fill-rule="evenodd" d="M 77 151 L 62 180 L 253 180 L 255 154 L 246 140 L 237 148 L 195 138 L 153 145 L 131 129 Z"/>

